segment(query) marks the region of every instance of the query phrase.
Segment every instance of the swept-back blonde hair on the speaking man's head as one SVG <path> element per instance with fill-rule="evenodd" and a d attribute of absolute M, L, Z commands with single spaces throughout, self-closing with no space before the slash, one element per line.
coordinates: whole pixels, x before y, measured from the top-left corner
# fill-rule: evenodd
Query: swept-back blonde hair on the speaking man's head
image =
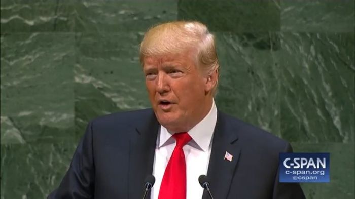
<path fill-rule="evenodd" d="M 215 36 L 198 21 L 174 21 L 153 26 L 144 35 L 140 44 L 140 63 L 145 57 L 194 52 L 193 59 L 205 75 L 217 71 L 219 61 L 215 46 Z M 218 77 L 212 94 L 217 91 Z"/>

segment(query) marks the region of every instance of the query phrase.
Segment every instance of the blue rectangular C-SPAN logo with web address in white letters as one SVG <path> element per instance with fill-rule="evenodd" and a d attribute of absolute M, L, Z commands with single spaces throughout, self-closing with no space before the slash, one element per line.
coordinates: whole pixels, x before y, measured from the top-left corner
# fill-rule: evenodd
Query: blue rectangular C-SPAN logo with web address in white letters
<path fill-rule="evenodd" d="M 329 153 L 280 153 L 280 182 L 329 182 Z"/>

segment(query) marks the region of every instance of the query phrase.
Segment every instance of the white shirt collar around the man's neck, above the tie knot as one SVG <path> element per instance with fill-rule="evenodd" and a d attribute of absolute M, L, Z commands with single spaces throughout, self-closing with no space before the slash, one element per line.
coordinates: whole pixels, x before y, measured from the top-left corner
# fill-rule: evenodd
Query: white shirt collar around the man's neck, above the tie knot
<path fill-rule="evenodd" d="M 212 101 L 212 107 L 208 114 L 196 125 L 194 126 L 188 134 L 191 136 L 192 140 L 198 145 L 203 151 L 208 151 L 209 145 L 211 143 L 212 135 L 215 130 L 217 122 L 217 107 L 215 100 Z M 174 139 L 170 139 L 174 133 L 168 132 L 168 130 L 160 125 L 159 140 L 157 145 L 162 147 L 167 144 L 175 143 Z"/>

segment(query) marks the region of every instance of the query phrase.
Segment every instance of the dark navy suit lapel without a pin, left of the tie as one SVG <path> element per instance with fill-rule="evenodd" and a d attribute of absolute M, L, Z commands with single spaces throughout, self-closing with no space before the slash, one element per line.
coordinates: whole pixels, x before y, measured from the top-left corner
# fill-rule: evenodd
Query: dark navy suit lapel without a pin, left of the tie
<path fill-rule="evenodd" d="M 159 123 L 154 112 L 147 121 L 138 121 L 129 143 L 128 198 L 142 198 L 144 180 L 152 174 Z M 150 195 L 147 195 L 150 198 Z"/>

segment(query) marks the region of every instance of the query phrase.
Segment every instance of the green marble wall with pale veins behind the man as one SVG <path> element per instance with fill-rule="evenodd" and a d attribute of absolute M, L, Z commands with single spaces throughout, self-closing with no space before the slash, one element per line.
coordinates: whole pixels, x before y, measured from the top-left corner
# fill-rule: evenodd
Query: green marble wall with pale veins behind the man
<path fill-rule="evenodd" d="M 153 24 L 196 19 L 216 34 L 218 107 L 331 152 L 307 198 L 354 198 L 354 1 L 1 1 L 1 194 L 45 198 L 87 122 L 149 107 L 138 45 Z"/>

